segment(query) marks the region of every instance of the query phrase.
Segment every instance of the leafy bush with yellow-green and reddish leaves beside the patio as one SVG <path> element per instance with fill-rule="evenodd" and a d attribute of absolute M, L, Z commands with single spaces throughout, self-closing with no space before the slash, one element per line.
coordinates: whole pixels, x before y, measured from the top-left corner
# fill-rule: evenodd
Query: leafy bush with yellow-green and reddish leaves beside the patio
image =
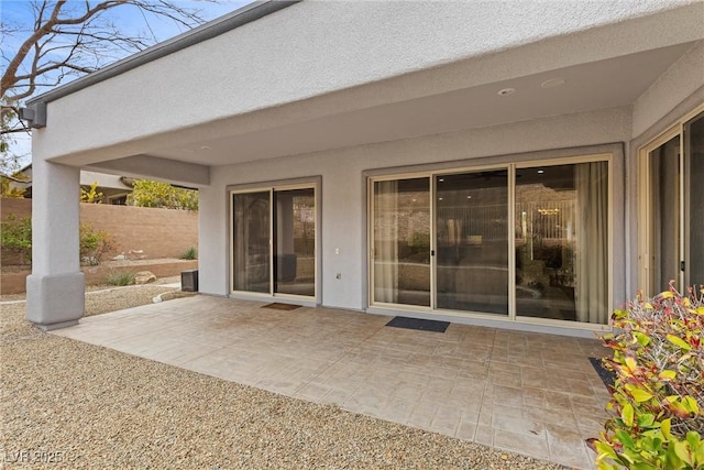
<path fill-rule="evenodd" d="M 670 286 L 613 319 L 613 417 L 590 439 L 597 467 L 704 469 L 704 288 L 682 296 Z"/>

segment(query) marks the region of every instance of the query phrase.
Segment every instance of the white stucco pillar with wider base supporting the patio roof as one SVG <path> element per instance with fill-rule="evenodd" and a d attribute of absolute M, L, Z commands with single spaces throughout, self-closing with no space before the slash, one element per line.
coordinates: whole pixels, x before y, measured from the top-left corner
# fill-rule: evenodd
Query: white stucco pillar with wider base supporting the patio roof
<path fill-rule="evenodd" d="M 32 274 L 26 318 L 45 330 L 78 323 L 85 310 L 79 260 L 80 170 L 32 162 Z"/>

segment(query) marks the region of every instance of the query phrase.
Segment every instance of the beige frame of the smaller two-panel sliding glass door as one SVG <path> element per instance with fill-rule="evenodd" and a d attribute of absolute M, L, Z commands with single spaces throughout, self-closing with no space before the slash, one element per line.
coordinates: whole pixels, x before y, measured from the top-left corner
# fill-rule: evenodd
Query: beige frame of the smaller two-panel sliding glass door
<path fill-rule="evenodd" d="M 272 298 L 272 297 L 276 297 L 276 298 L 287 298 L 287 299 L 294 299 L 294 300 L 300 300 L 300 302 L 310 302 L 310 300 L 315 300 L 316 305 L 318 304 L 318 296 L 319 296 L 319 292 L 320 292 L 320 252 L 319 252 L 319 247 L 320 247 L 320 200 L 319 200 L 319 183 L 318 182 L 310 182 L 310 183 L 296 183 L 296 184 L 272 184 L 272 185 L 246 185 L 246 187 L 241 187 L 241 188 L 237 188 L 237 189 L 231 189 L 228 192 L 229 194 L 229 203 L 228 203 L 228 207 L 229 207 L 229 212 L 230 212 L 230 217 L 229 217 L 229 236 L 230 236 L 230 255 L 229 255 L 229 263 L 230 263 L 230 280 L 229 280 L 229 292 L 231 295 L 238 296 L 238 297 L 260 297 L 260 298 Z M 275 285 L 276 285 L 276 266 L 275 266 L 275 247 L 274 247 L 274 230 L 275 230 L 275 217 L 276 217 L 276 207 L 274 206 L 274 194 L 276 192 L 286 192 L 286 190 L 294 190 L 294 189 L 312 189 L 314 190 L 314 204 L 315 204 L 315 210 L 314 210 L 314 223 L 315 223 L 315 240 L 314 240 L 314 253 L 315 253 L 315 260 L 314 260 L 314 269 L 315 269 L 315 274 L 314 274 L 314 295 L 312 296 L 308 296 L 308 295 L 296 295 L 296 294 L 283 294 L 283 293 L 277 293 L 275 292 Z M 270 256 L 270 263 L 268 263 L 268 284 L 270 284 L 270 288 L 267 293 L 264 292 L 251 292 L 251 291 L 235 291 L 234 289 L 234 269 L 235 269 L 235 263 L 234 263 L 234 256 L 235 256 L 235 248 L 234 248 L 234 207 L 233 207 L 233 196 L 238 195 L 238 194 L 251 194 L 251 193 L 268 193 L 268 204 L 270 204 L 270 221 L 268 221 L 268 234 L 270 234 L 270 239 L 268 239 L 268 256 Z"/>

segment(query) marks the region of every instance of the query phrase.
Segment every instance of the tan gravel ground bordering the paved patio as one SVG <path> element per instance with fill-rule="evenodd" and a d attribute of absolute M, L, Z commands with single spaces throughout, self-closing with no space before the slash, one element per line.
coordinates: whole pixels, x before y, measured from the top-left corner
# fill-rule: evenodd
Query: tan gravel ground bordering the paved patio
<path fill-rule="evenodd" d="M 86 296 L 88 315 L 151 302 Z M 2 305 L 0 467 L 561 469 L 44 334 Z M 26 461 L 30 463 L 16 463 Z"/>

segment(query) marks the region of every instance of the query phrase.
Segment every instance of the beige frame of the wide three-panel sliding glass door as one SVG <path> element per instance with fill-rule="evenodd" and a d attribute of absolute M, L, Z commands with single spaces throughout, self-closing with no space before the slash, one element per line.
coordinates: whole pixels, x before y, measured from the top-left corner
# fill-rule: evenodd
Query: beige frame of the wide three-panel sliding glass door
<path fill-rule="evenodd" d="M 394 174 L 383 174 L 383 175 L 374 175 L 367 176 L 367 302 L 370 307 L 382 308 L 382 309 L 394 309 L 394 310 L 407 310 L 407 311 L 419 311 L 424 314 L 433 314 L 433 315 L 450 315 L 450 316 L 461 316 L 461 317 L 474 317 L 474 318 L 483 318 L 483 319 L 492 319 L 497 321 L 520 321 L 525 324 L 536 324 L 536 325 L 553 325 L 553 326 L 570 326 L 572 328 L 582 328 L 587 330 L 609 330 L 610 329 L 610 320 L 607 325 L 602 324 L 588 324 L 581 321 L 568 321 L 568 320 L 554 320 L 554 319 L 546 319 L 538 317 L 529 317 L 529 316 L 520 316 L 517 315 L 516 311 L 516 256 L 515 256 L 515 247 L 516 240 L 515 236 L 515 215 L 516 215 L 516 170 L 517 168 L 530 168 L 535 166 L 553 166 L 553 165 L 565 165 L 565 164 L 580 164 L 580 163 L 592 163 L 592 162 L 607 162 L 608 165 L 608 204 L 606 215 L 607 223 L 608 223 L 608 233 L 607 233 L 607 303 L 608 303 L 608 311 L 612 311 L 613 306 L 613 292 L 614 292 L 614 237 L 613 237 L 613 228 L 614 228 L 614 164 L 613 164 L 614 155 L 613 153 L 597 153 L 597 154 L 581 154 L 573 156 L 561 156 L 554 159 L 542 159 L 542 160 L 526 160 L 515 163 L 501 163 L 494 165 L 477 165 L 477 166 L 458 166 L 458 167 L 448 167 L 448 168 L 439 168 L 437 171 L 425 171 L 418 173 L 409 173 L 409 172 L 399 172 Z M 375 302 L 374 299 L 374 183 L 382 181 L 399 181 L 407 178 L 421 178 L 428 177 L 430 179 L 430 198 L 432 203 L 430 204 L 430 250 L 437 254 L 438 240 L 437 234 L 438 230 L 436 227 L 436 205 L 437 205 L 437 176 L 441 175 L 454 175 L 460 173 L 473 173 L 473 172 L 482 172 L 482 171 L 495 171 L 495 170 L 506 170 L 507 171 L 507 217 L 508 217 L 508 315 L 497 315 L 491 313 L 482 313 L 482 311 L 471 311 L 471 310 L 451 310 L 451 309 L 440 309 L 437 308 L 437 255 L 430 256 L 430 307 L 421 307 L 406 304 L 394 304 L 394 303 L 382 303 Z M 609 316 L 610 317 L 610 316 Z"/>

